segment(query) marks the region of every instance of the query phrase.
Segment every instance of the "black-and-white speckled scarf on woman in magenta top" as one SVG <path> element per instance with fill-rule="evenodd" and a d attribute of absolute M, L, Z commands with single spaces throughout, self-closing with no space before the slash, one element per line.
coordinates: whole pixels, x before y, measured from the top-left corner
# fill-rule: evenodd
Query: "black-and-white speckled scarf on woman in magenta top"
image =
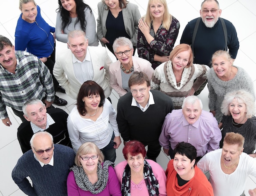
<path fill-rule="evenodd" d="M 71 167 L 70 170 L 74 172 L 76 184 L 79 188 L 81 188 L 84 191 L 90 191 L 92 194 L 99 194 L 107 186 L 108 166 L 110 165 L 114 167 L 114 163 L 112 163 L 109 160 L 106 160 L 103 163 L 103 166 L 98 162 L 98 168 L 97 168 L 98 181 L 95 184 L 92 184 L 90 182 L 90 180 L 88 179 L 88 176 L 85 174 L 85 171 L 83 170 L 83 167 L 74 165 L 74 167 Z"/>

